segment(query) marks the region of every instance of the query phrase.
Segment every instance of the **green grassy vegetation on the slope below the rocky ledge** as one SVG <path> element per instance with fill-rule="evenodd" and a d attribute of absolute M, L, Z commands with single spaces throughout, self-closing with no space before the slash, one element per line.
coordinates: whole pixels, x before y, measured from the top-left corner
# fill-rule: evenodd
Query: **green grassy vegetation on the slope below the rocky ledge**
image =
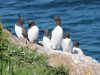
<path fill-rule="evenodd" d="M 47 57 L 28 48 L 11 44 L 0 24 L 0 75 L 69 75 L 64 67 L 47 65 Z"/>

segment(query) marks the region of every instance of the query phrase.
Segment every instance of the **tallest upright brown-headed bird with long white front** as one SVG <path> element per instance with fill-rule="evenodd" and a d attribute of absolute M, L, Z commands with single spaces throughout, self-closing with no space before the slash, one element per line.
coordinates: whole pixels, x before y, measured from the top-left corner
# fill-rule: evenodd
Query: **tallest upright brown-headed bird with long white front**
<path fill-rule="evenodd" d="M 51 45 L 54 50 L 57 50 L 61 48 L 61 43 L 63 39 L 63 29 L 61 28 L 60 17 L 55 16 L 54 20 L 56 22 L 56 27 L 54 28 L 51 34 Z"/>

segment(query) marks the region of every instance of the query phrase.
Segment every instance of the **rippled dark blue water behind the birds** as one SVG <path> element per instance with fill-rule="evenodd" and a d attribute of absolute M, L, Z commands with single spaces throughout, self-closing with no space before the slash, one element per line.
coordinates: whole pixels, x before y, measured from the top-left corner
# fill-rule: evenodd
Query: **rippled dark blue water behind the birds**
<path fill-rule="evenodd" d="M 79 40 L 85 55 L 100 62 L 100 0 L 0 0 L 0 20 L 13 33 L 18 13 L 26 28 L 32 19 L 40 29 L 49 30 L 55 27 L 52 17 L 60 16 L 64 32 Z"/>

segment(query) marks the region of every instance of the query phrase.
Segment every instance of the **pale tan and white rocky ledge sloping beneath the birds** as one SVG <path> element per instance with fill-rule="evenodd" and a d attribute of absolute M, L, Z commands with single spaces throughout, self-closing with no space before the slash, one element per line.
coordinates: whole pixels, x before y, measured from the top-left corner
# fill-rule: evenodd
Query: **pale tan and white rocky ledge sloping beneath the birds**
<path fill-rule="evenodd" d="M 100 63 L 92 57 L 69 54 L 59 50 L 46 50 L 42 46 L 30 43 L 24 38 L 17 38 L 6 29 L 3 29 L 3 31 L 10 35 L 8 40 L 11 41 L 11 43 L 28 47 L 31 50 L 36 50 L 39 53 L 46 54 L 48 56 L 49 66 L 64 66 L 69 70 L 70 75 L 100 75 Z"/>

